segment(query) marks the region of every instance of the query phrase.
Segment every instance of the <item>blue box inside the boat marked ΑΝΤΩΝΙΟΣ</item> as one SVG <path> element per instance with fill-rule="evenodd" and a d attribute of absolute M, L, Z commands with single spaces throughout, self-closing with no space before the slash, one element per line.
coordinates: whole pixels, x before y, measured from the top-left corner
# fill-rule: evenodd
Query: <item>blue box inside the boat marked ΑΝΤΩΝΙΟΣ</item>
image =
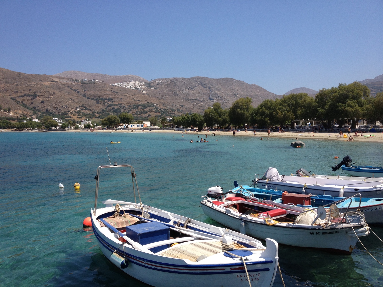
<path fill-rule="evenodd" d="M 138 242 L 141 245 L 154 243 L 163 240 L 169 240 L 170 227 L 160 222 L 145 222 L 126 227 L 126 236 Z M 153 253 L 169 248 L 169 244 L 157 246 L 149 249 Z"/>

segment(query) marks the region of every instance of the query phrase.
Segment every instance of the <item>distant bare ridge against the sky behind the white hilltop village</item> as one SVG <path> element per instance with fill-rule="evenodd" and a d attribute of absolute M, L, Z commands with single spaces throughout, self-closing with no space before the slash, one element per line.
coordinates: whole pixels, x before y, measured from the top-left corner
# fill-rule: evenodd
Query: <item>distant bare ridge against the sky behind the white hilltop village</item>
<path fill-rule="evenodd" d="M 136 75 L 111 76 L 108 74 L 85 73 L 80 71 L 65 71 L 62 73 L 54 74 L 54 76 L 72 78 L 77 80 L 83 80 L 83 79 L 93 80 L 94 79 L 94 80 L 102 81 L 106 84 L 114 84 L 118 82 L 130 82 L 130 81 L 145 82 L 145 83 L 148 82 L 144 78 L 141 78 Z"/>

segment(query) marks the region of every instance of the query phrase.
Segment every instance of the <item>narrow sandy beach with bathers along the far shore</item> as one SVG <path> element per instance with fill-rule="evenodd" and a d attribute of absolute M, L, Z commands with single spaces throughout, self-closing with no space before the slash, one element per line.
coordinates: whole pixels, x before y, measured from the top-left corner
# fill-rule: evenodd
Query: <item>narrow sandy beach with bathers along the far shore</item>
<path fill-rule="evenodd" d="M 48 130 L 0 130 L 0 132 L 59 132 L 59 131 L 48 131 Z M 90 130 L 63 130 L 60 132 L 90 132 Z M 93 132 L 101 132 L 101 133 L 127 133 L 127 132 L 139 132 L 141 133 L 141 130 L 93 130 Z M 213 132 L 196 132 L 196 131 L 187 131 L 182 132 L 182 130 L 144 130 L 144 132 L 150 132 L 150 133 L 170 133 L 170 134 L 182 134 L 182 135 L 205 135 L 207 134 L 208 137 L 211 137 Z M 232 136 L 234 137 L 232 132 L 223 132 L 218 131 L 215 132 L 216 135 L 226 135 L 226 136 Z M 360 141 L 360 142 L 383 142 L 383 132 L 375 132 L 375 133 L 363 133 L 364 135 L 372 135 L 372 137 L 365 137 L 365 136 L 358 136 L 354 137 L 354 141 Z M 264 140 L 267 140 L 267 138 L 286 138 L 290 140 L 304 140 L 304 139 L 321 139 L 321 140 L 342 140 L 347 141 L 348 138 L 339 138 L 339 133 L 331 133 L 331 132 L 271 132 L 270 135 L 267 134 L 267 132 L 256 132 L 256 135 L 254 136 L 254 133 L 252 131 L 245 132 L 236 132 L 236 137 L 257 137 L 257 138 L 263 138 Z M 352 141 L 349 141 L 352 142 Z"/>

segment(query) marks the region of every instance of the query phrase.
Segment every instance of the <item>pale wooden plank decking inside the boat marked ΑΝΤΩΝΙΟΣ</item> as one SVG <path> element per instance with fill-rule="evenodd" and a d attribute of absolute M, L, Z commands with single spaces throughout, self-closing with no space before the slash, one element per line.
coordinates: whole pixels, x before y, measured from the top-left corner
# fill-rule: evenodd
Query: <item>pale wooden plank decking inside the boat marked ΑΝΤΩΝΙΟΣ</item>
<path fill-rule="evenodd" d="M 201 255 L 209 257 L 220 252 L 222 252 L 221 241 L 204 240 L 198 242 L 191 241 L 190 243 L 187 242 L 180 245 L 177 244 L 158 254 L 166 257 L 188 259 L 196 262 L 197 258 Z"/>

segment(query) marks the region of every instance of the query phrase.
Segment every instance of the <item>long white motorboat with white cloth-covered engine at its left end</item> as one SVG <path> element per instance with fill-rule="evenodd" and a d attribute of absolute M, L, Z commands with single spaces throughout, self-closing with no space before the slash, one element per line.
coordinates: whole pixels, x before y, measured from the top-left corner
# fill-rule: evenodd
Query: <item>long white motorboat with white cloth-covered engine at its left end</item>
<path fill-rule="evenodd" d="M 276 168 L 268 168 L 264 176 L 256 180 L 258 188 L 276 189 L 303 194 L 321 194 L 347 197 L 360 193 L 362 197 L 382 197 L 383 179 L 375 181 L 347 180 L 314 176 L 280 175 Z"/>

